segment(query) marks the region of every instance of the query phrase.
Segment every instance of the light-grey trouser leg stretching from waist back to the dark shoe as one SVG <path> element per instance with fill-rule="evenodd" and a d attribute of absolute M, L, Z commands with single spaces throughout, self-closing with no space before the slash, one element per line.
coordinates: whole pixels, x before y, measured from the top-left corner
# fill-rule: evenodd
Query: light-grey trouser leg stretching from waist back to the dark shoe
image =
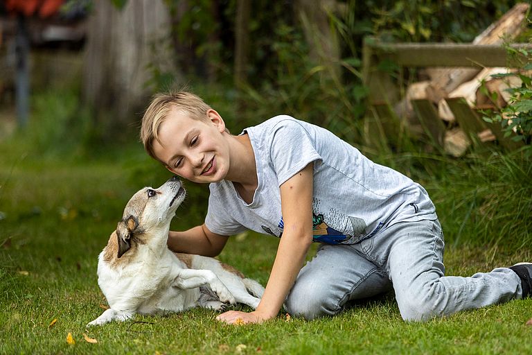
<path fill-rule="evenodd" d="M 386 234 L 375 241 L 372 253 L 388 254 L 384 267 L 404 320 L 428 320 L 522 297 L 520 278 L 508 268 L 471 277 L 444 276 L 438 220 L 397 223 Z"/>

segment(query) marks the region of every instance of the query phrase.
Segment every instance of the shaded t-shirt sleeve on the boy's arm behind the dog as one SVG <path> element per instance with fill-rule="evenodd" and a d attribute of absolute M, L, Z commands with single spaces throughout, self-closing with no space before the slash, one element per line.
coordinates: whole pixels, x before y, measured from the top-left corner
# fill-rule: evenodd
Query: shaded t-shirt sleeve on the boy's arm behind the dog
<path fill-rule="evenodd" d="M 205 216 L 205 225 L 209 230 L 223 236 L 232 236 L 247 230 L 242 224 L 238 223 L 229 213 L 227 206 L 229 201 L 225 200 L 223 193 L 218 193 L 216 188 L 209 187 L 211 194 L 209 196 L 209 206 Z"/>

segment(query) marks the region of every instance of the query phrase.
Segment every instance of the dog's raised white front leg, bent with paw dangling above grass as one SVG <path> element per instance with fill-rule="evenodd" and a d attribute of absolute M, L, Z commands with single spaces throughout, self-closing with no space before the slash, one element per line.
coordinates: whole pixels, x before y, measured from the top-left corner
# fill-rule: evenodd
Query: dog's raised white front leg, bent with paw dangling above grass
<path fill-rule="evenodd" d="M 209 285 L 220 301 L 229 304 L 235 304 L 235 297 L 229 289 L 218 279 L 211 270 L 181 269 L 174 279 L 173 286 L 188 290 L 203 285 Z"/>

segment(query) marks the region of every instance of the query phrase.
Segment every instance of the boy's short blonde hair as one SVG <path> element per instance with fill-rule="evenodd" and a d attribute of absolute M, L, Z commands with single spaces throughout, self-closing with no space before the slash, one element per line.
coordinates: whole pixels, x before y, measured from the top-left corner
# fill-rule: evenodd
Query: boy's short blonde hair
<path fill-rule="evenodd" d="M 154 140 L 159 141 L 159 126 L 168 118 L 168 114 L 174 108 L 188 114 L 191 119 L 199 121 L 208 121 L 207 111 L 211 110 L 211 106 L 190 92 L 169 92 L 153 96 L 152 102 L 142 117 L 141 141 L 146 152 L 154 159 L 157 157 L 153 151 L 153 142 Z"/>

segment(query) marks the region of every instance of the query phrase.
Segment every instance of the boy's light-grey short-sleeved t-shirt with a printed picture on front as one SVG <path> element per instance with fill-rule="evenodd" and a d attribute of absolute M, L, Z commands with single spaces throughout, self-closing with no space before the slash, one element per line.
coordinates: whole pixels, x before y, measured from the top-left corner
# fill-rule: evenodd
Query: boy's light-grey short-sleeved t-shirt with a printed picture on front
<path fill-rule="evenodd" d="M 371 162 L 324 128 L 282 115 L 245 133 L 255 153 L 258 187 L 247 204 L 232 182 L 210 184 L 205 224 L 214 233 L 254 230 L 281 237 L 279 187 L 309 163 L 314 166 L 314 241 L 353 244 L 394 223 L 437 218 L 423 187 Z"/>

